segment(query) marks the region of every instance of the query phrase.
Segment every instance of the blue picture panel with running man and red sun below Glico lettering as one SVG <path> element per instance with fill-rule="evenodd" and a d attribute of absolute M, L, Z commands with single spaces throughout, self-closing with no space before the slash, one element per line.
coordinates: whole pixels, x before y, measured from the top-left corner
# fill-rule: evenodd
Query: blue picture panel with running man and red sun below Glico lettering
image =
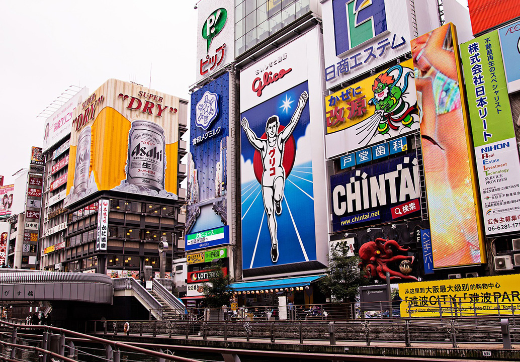
<path fill-rule="evenodd" d="M 242 268 L 316 260 L 308 83 L 241 114 Z"/>

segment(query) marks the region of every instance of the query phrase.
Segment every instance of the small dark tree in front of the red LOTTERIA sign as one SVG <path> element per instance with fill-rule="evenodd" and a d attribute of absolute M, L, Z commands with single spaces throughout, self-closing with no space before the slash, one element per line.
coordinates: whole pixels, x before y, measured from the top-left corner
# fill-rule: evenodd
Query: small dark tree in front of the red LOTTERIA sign
<path fill-rule="evenodd" d="M 209 281 L 202 284 L 202 294 L 204 294 L 204 303 L 212 308 L 219 308 L 229 304 L 229 300 L 233 296 L 235 289 L 231 287 L 231 279 L 228 275 L 224 275 L 224 265 L 221 261 L 215 264 Z"/>

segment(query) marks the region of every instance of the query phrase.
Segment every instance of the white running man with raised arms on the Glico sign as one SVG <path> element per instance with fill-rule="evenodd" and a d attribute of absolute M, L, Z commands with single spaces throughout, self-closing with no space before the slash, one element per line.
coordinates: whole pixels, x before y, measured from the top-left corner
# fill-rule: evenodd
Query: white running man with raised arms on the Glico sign
<path fill-rule="evenodd" d="M 294 111 L 289 124 L 279 130 L 280 120 L 277 115 L 271 115 L 267 119 L 265 125 L 265 132 L 267 139 L 261 139 L 251 130 L 248 120 L 244 117 L 242 119 L 242 127 L 249 142 L 262 155 L 262 164 L 264 171 L 262 173 L 262 196 L 264 198 L 264 208 L 267 214 L 267 226 L 269 227 L 269 234 L 271 236 L 271 261 L 276 263 L 278 261 L 278 239 L 277 239 L 277 222 L 276 215 L 282 213 L 283 189 L 285 187 L 285 170 L 282 166 L 283 151 L 285 142 L 289 139 L 300 120 L 303 109 L 307 104 L 309 95 L 304 91 L 298 106 Z"/>

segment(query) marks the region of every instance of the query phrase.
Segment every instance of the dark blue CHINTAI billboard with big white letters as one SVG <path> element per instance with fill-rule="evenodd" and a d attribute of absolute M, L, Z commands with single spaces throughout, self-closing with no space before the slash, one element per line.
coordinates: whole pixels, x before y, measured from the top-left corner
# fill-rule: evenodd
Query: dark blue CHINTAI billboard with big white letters
<path fill-rule="evenodd" d="M 415 153 L 332 175 L 333 231 L 418 216 L 419 164 Z"/>

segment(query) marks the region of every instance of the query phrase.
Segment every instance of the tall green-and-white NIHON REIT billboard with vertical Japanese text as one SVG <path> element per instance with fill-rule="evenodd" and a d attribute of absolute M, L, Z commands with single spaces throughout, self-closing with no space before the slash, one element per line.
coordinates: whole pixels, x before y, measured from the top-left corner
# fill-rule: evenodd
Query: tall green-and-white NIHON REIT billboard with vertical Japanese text
<path fill-rule="evenodd" d="M 461 44 L 486 236 L 520 230 L 520 161 L 498 32 Z"/>

